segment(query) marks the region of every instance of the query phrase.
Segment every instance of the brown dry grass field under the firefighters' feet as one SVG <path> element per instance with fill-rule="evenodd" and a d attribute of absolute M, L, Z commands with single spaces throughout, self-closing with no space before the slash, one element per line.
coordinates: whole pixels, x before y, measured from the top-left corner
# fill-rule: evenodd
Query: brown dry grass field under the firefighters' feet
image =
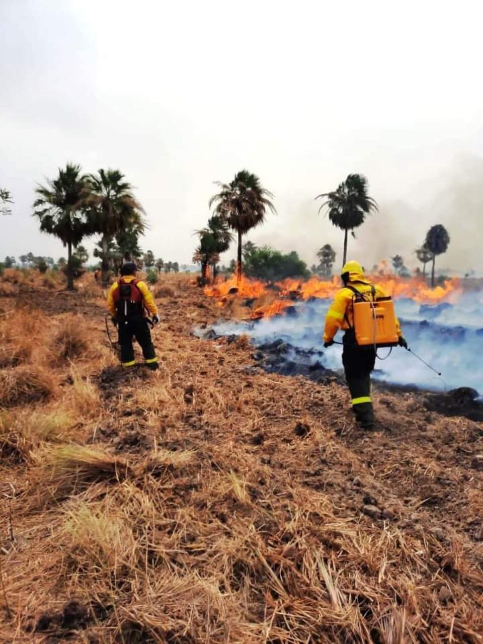
<path fill-rule="evenodd" d="M 0 279 L 0 641 L 483 641 L 483 426 L 266 374 L 186 276 L 123 372 L 91 275 Z"/>

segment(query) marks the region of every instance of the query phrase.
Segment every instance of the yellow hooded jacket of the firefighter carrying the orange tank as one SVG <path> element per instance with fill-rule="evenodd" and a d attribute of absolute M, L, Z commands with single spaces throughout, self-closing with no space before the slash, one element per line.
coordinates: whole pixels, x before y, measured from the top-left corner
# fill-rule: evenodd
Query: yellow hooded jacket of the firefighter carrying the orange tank
<path fill-rule="evenodd" d="M 347 284 L 354 287 L 354 289 L 357 289 L 359 293 L 371 292 L 373 285 L 365 278 L 363 267 L 358 261 L 348 261 L 344 265 L 341 275 L 344 273 L 349 274 Z M 386 297 L 386 292 L 384 292 L 379 285 L 374 284 L 374 289 L 375 299 Z M 329 342 L 334 339 L 339 328 L 347 330 L 348 328 L 352 328 L 354 325 L 354 319 L 352 316 L 352 298 L 354 298 L 354 292 L 350 289 L 346 289 L 344 287 L 337 292 L 336 297 L 325 316 L 324 342 Z M 401 332 L 401 326 L 399 325 L 397 317 L 396 328 L 398 336 L 401 337 L 403 332 Z"/>

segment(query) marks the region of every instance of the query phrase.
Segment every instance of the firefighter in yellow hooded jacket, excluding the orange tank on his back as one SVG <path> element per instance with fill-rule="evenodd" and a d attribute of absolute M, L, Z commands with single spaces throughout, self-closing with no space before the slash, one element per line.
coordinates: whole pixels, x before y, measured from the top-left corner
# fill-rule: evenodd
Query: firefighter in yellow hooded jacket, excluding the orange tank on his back
<path fill-rule="evenodd" d="M 334 336 L 340 329 L 345 331 L 343 336 L 342 363 L 345 378 L 350 391 L 352 411 L 355 420 L 364 429 L 374 428 L 375 417 L 371 399 L 370 374 L 375 364 L 375 348 L 373 345 L 359 346 L 355 341 L 352 302 L 357 293 L 368 294 L 375 299 L 384 298 L 386 294 L 377 284 L 373 285 L 365 278 L 364 269 L 358 261 L 348 261 L 343 266 L 341 278 L 344 287 L 340 289 L 325 317 L 324 346 L 334 344 Z M 374 291 L 373 291 L 374 289 Z M 399 321 L 396 318 L 399 346 L 408 347 L 404 339 Z"/>

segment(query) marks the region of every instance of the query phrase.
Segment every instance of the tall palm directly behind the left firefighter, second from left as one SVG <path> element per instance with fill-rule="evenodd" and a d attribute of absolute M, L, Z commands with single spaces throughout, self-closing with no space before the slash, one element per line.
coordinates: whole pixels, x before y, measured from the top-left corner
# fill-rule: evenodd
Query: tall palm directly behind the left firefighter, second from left
<path fill-rule="evenodd" d="M 91 230 L 102 236 L 101 270 L 102 283 L 108 283 L 109 241 L 125 229 L 135 228 L 142 234 L 146 222 L 144 210 L 132 193 L 132 186 L 124 181 L 119 170 L 100 169 L 98 175 L 90 175 L 91 194 L 86 199 L 89 207 Z"/>

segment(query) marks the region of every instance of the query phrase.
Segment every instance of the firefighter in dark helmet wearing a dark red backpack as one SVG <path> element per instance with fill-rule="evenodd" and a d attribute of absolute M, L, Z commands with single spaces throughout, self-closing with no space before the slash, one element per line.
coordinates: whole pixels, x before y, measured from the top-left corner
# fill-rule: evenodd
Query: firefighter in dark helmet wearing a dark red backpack
<path fill-rule="evenodd" d="M 147 323 L 147 310 L 153 316 L 153 323 L 159 322 L 158 308 L 144 281 L 136 279 L 137 266 L 127 261 L 120 269 L 121 277 L 113 283 L 108 292 L 108 309 L 119 332 L 122 366 L 135 366 L 133 337 L 142 348 L 144 362 L 155 371 L 159 368 L 151 332 Z"/>

